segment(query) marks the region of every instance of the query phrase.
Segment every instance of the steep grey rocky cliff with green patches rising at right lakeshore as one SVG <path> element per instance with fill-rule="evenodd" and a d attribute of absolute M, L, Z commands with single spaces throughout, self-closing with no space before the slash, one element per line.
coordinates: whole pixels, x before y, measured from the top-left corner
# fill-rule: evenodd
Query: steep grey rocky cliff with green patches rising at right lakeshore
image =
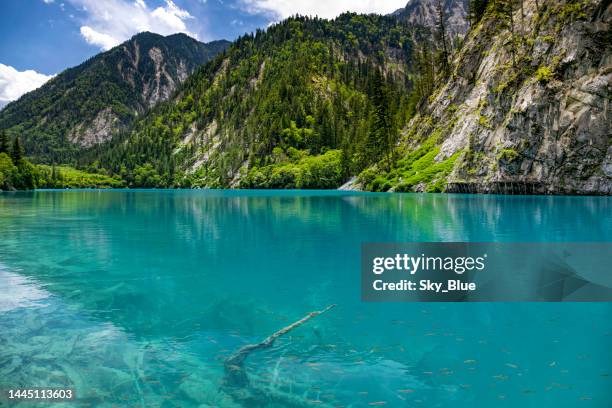
<path fill-rule="evenodd" d="M 397 162 L 363 172 L 362 188 L 611 194 L 610 1 L 481 3 Z"/>

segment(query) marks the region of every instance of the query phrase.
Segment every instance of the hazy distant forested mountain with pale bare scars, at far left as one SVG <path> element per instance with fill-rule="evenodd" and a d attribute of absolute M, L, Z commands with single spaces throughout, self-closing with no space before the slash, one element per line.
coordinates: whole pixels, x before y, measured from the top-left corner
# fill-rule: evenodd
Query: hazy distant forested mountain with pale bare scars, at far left
<path fill-rule="evenodd" d="M 169 98 L 197 67 L 229 42 L 184 34 L 141 33 L 70 68 L 0 111 L 0 129 L 19 135 L 28 156 L 72 162 Z"/>

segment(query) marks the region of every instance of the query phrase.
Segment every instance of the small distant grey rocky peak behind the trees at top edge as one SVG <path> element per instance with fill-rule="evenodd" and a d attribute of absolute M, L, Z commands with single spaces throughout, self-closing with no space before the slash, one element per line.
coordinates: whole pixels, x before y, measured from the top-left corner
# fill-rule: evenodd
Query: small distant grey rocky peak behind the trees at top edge
<path fill-rule="evenodd" d="M 411 0 L 393 15 L 409 24 L 435 28 L 440 21 L 438 7 L 442 6 L 448 34 L 455 39 L 468 31 L 468 3 L 469 0 Z"/>

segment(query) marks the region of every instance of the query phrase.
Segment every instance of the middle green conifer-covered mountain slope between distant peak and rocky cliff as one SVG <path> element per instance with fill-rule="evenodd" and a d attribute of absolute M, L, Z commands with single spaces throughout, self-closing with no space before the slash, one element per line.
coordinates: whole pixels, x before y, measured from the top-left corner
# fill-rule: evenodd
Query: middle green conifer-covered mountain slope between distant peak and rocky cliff
<path fill-rule="evenodd" d="M 356 14 L 245 35 L 84 164 L 140 186 L 335 188 L 387 155 L 410 115 L 410 37 Z"/>

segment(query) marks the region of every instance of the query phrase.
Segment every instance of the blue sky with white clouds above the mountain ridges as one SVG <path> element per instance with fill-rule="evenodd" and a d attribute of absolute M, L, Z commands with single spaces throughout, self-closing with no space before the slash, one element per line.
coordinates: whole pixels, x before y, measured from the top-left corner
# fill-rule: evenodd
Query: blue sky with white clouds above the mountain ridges
<path fill-rule="evenodd" d="M 390 13 L 408 0 L 0 0 L 0 108 L 140 31 L 233 40 L 290 15 Z"/>

